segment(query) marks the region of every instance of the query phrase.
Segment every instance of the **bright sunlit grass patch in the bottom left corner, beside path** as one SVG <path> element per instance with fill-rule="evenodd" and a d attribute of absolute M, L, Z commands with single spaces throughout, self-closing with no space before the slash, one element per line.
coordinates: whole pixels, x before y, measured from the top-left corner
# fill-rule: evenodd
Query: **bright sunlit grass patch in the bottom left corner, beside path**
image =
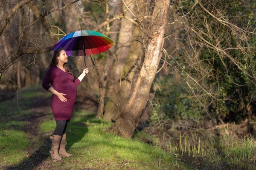
<path fill-rule="evenodd" d="M 26 155 L 29 143 L 23 131 L 0 130 L 0 165 L 20 162 Z"/>

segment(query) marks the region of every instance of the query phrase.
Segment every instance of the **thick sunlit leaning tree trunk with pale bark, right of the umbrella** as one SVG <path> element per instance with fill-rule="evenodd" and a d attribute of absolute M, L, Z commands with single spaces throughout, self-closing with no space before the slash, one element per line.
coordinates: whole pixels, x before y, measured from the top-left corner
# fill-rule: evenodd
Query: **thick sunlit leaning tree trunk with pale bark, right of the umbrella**
<path fill-rule="evenodd" d="M 161 50 L 163 48 L 168 8 L 169 0 L 155 1 L 151 20 L 152 27 L 149 32 L 150 40 L 145 51 L 145 59 L 139 77 L 130 99 L 123 106 L 120 106 L 120 116 L 113 126 L 113 132 L 125 138 L 131 138 L 133 135 L 137 121 L 148 100 L 148 94 L 162 56 Z"/>

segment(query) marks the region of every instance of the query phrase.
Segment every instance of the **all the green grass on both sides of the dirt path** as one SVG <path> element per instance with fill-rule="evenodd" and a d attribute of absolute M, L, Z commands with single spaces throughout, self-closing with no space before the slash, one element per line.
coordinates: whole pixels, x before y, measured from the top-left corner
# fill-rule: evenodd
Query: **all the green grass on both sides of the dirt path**
<path fill-rule="evenodd" d="M 41 87 L 38 86 L 38 88 Z M 140 142 L 139 139 L 124 139 L 113 135 L 108 130 L 111 123 L 95 119 L 95 113 L 84 110 L 74 111 L 67 128 L 66 149 L 73 156 L 64 158 L 62 161 L 52 161 L 47 154 L 50 147 L 49 135 L 56 126 L 54 116 L 47 115 L 44 121 L 40 122 L 38 136 L 41 135 L 41 138 L 32 139 L 33 144 L 29 141 L 29 134 L 24 132 L 26 125 L 29 125 L 27 122 L 29 117 L 35 114 L 29 111 L 29 106 L 37 102 L 38 97 L 50 101 L 51 94 L 47 91 L 37 91 L 37 88 L 24 89 L 19 99 L 19 105 L 23 111 L 17 107 L 16 96 L 16 99 L 0 103 L 0 116 L 5 120 L 0 121 L 0 166 L 32 166 L 29 162 L 38 160 L 38 153 L 32 153 L 32 157 L 27 157 L 26 154 L 27 150 L 33 146 L 34 150 L 43 150 L 43 155 L 46 155 L 42 166 L 47 165 L 50 169 L 56 170 L 190 169 L 177 161 L 173 154 L 166 153 L 160 148 Z M 47 135 L 44 136 L 45 134 Z M 34 157 L 37 158 L 33 159 Z M 45 168 L 48 169 L 48 167 Z"/>

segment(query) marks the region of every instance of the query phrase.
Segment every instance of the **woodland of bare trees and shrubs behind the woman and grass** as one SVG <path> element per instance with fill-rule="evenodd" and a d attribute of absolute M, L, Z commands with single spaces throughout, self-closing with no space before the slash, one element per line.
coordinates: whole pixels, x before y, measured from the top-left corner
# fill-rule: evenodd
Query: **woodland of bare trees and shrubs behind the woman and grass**
<path fill-rule="evenodd" d="M 9 107 L 18 107 L 19 91 L 41 88 L 61 37 L 99 31 L 114 44 L 86 57 L 90 73 L 76 105 L 110 122 L 111 133 L 137 135 L 192 167 L 253 168 L 255 6 L 253 0 L 1 0 L 0 102 L 17 98 Z M 76 78 L 83 57 L 69 57 L 67 65 Z"/>

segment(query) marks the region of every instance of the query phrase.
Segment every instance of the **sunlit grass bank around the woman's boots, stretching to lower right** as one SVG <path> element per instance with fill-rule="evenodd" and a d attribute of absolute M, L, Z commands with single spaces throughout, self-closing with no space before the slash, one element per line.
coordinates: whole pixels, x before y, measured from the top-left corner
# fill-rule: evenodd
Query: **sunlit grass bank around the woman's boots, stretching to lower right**
<path fill-rule="evenodd" d="M 67 150 L 73 154 L 64 158 L 62 168 L 68 169 L 138 169 L 176 170 L 187 169 L 177 163 L 175 157 L 160 148 L 145 144 L 136 139 L 124 139 L 108 132 L 111 123 L 91 119 L 94 113 L 75 111 L 67 127 Z M 41 124 L 41 131 L 54 130 L 55 121 Z M 53 163 L 60 166 L 59 162 Z"/>

